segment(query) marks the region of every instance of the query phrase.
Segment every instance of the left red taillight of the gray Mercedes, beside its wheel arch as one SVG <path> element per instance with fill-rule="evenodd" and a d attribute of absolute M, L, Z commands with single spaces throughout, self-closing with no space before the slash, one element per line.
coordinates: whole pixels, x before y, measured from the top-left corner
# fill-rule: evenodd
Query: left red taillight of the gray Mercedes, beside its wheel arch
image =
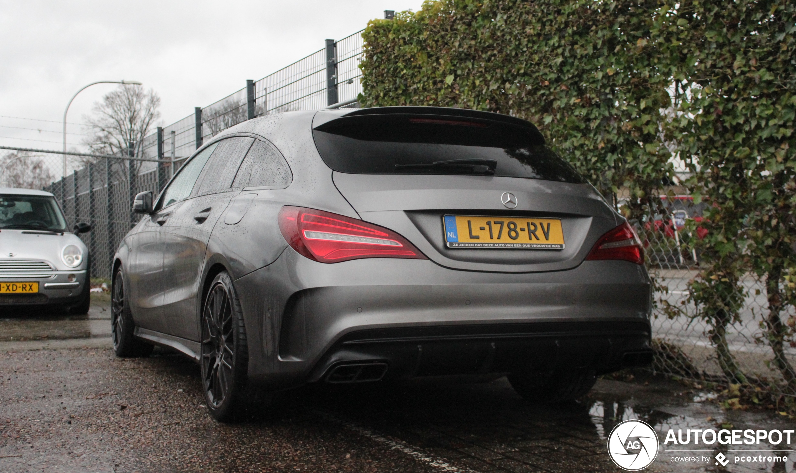
<path fill-rule="evenodd" d="M 299 254 L 321 263 L 359 258 L 412 258 L 423 253 L 392 230 L 323 210 L 285 205 L 279 229 Z"/>

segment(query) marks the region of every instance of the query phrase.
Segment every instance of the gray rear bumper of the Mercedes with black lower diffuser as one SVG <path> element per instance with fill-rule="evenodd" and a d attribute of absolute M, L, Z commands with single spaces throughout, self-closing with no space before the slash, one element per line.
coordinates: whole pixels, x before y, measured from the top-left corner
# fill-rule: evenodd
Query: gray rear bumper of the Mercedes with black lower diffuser
<path fill-rule="evenodd" d="M 412 377 L 575 366 L 605 373 L 623 357 L 649 358 L 650 280 L 622 261 L 487 273 L 428 260 L 320 264 L 288 248 L 236 289 L 249 377 L 274 389 L 360 362 Z"/>

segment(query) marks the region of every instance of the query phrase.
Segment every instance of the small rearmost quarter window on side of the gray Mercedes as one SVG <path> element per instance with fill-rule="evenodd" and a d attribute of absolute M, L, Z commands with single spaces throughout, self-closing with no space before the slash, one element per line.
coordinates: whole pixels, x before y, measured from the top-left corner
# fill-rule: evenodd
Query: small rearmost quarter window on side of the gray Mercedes
<path fill-rule="evenodd" d="M 292 180 L 291 169 L 282 154 L 275 147 L 255 140 L 232 187 L 287 186 Z"/>

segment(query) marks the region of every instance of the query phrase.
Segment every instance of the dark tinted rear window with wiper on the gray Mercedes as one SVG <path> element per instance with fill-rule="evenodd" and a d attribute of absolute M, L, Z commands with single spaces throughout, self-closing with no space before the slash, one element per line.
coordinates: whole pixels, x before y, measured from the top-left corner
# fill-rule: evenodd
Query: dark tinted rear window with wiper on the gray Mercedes
<path fill-rule="evenodd" d="M 446 115 L 343 116 L 315 127 L 326 165 L 349 174 L 465 174 L 583 183 L 533 127 Z"/>

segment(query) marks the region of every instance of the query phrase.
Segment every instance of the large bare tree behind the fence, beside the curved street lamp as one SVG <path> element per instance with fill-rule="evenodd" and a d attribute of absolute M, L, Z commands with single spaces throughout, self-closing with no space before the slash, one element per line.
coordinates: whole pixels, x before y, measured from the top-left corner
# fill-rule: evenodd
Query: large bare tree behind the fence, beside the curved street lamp
<path fill-rule="evenodd" d="M 94 104 L 92 115 L 84 116 L 91 128 L 84 144 L 97 154 L 126 154 L 127 143 L 135 143 L 135 154 L 140 155 L 144 137 L 160 118 L 158 107 L 160 97 L 152 89 L 120 85 Z"/>

